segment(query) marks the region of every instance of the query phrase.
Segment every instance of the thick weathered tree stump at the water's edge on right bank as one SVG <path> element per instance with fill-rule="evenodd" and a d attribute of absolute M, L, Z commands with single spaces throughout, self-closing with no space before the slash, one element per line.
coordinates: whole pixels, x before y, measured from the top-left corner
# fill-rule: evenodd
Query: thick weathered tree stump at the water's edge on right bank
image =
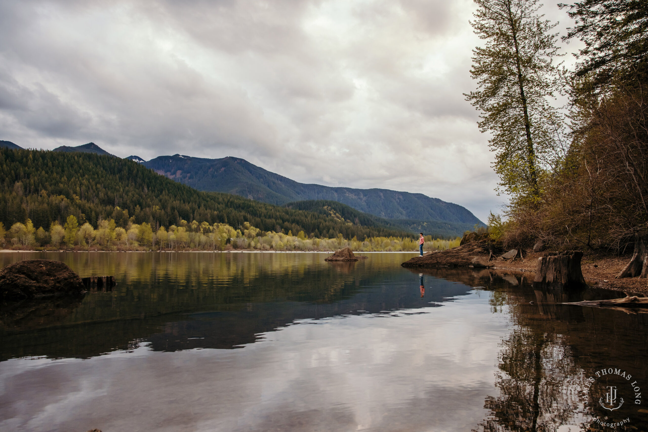
<path fill-rule="evenodd" d="M 582 251 L 550 252 L 538 258 L 533 283 L 561 288 L 584 286 L 581 258 Z"/>

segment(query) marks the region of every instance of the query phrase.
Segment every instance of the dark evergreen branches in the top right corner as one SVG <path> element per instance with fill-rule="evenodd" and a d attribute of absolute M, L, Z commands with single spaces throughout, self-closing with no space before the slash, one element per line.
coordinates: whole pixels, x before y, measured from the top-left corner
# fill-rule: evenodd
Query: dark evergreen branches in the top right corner
<path fill-rule="evenodd" d="M 648 74 L 648 2 L 645 0 L 583 0 L 569 7 L 576 25 L 564 40 L 578 38 L 585 47 L 576 76 L 590 76 L 581 90 L 608 93 L 618 86 L 615 78 L 627 81 Z"/>

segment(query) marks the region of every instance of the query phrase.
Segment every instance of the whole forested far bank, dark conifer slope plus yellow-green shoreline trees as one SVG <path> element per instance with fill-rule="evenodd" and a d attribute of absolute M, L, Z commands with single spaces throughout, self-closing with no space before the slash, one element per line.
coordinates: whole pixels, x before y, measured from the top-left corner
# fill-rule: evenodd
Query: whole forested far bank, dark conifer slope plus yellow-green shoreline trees
<path fill-rule="evenodd" d="M 16 249 L 415 251 L 371 219 L 199 192 L 127 159 L 0 148 L 0 245 Z M 429 247 L 452 247 L 438 240 Z M 434 244 L 433 244 L 434 243 Z"/>

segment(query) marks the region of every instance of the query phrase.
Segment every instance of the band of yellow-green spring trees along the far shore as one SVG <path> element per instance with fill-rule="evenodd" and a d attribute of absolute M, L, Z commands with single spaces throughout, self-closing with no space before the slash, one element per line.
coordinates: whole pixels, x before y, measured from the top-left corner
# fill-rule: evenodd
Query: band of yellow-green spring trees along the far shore
<path fill-rule="evenodd" d="M 73 218 L 73 216 L 70 216 Z M 14 223 L 8 236 L 18 248 L 32 247 L 34 236 L 30 235 L 27 224 Z M 33 229 L 33 227 L 32 227 Z M 16 239 L 16 241 L 13 241 Z M 68 239 L 70 240 L 67 242 Z M 65 241 L 63 241 L 65 240 Z M 459 238 L 453 240 L 433 239 L 426 236 L 425 251 L 443 250 L 459 245 Z M 226 251 L 231 249 L 256 251 L 333 251 L 341 247 L 351 247 L 354 251 L 416 251 L 418 240 L 410 237 L 375 236 L 350 240 L 342 234 L 334 238 L 316 238 L 299 231 L 296 236 L 275 231 L 262 231 L 244 222 L 240 229 L 227 223 L 187 223 L 181 220 L 178 225 L 159 227 L 153 231 L 149 223 L 129 222 L 126 228 L 117 227 L 114 220 L 102 220 L 97 229 L 90 223 L 76 226 L 75 220 L 66 223 L 66 229 L 52 223 L 49 233 L 42 227 L 38 229 L 36 244 L 45 249 L 58 248 L 62 242 L 76 250 L 202 250 Z"/>

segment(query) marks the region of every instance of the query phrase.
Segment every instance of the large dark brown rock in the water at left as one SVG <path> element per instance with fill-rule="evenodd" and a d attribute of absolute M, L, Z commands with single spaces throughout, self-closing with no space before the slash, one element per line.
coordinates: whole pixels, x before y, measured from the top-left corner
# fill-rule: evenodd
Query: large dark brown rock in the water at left
<path fill-rule="evenodd" d="M 0 270 L 0 300 L 33 299 L 86 292 L 81 278 L 65 263 L 24 260 Z"/>

